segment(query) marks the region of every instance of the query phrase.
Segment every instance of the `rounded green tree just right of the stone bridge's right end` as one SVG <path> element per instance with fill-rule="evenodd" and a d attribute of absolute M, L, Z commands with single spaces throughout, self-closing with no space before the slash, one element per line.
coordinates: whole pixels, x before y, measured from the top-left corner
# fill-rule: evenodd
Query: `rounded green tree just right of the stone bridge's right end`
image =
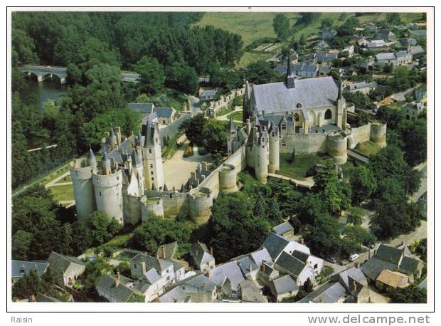
<path fill-rule="evenodd" d="M 164 88 L 164 67 L 156 58 L 143 56 L 134 70 L 139 73 L 139 91 L 147 94 L 158 93 Z"/>

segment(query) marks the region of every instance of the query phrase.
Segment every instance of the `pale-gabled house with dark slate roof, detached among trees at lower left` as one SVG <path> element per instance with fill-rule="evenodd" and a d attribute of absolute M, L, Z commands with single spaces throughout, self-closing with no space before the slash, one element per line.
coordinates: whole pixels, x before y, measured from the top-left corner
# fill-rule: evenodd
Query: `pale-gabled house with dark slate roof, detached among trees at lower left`
<path fill-rule="evenodd" d="M 57 283 L 60 286 L 72 286 L 85 270 L 85 263 L 80 259 L 55 252 L 49 256 L 48 263 L 57 274 Z"/>

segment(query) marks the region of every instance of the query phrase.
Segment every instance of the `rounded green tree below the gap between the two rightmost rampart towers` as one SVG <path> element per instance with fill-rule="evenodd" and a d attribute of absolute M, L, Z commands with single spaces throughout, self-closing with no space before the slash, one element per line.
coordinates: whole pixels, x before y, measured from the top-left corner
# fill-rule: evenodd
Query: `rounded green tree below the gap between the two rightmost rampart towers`
<path fill-rule="evenodd" d="M 375 175 L 367 167 L 356 167 L 351 175 L 352 202 L 356 205 L 366 201 L 377 189 Z"/>

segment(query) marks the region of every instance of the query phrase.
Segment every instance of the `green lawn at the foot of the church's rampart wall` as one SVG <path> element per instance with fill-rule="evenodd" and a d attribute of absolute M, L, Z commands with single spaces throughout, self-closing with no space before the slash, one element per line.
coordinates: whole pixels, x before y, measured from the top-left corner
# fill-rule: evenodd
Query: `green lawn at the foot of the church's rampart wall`
<path fill-rule="evenodd" d="M 296 155 L 294 162 L 291 163 L 291 154 L 280 154 L 280 171 L 292 177 L 304 178 L 314 164 L 326 164 L 326 162 L 332 162 L 332 158 L 326 155 Z"/>

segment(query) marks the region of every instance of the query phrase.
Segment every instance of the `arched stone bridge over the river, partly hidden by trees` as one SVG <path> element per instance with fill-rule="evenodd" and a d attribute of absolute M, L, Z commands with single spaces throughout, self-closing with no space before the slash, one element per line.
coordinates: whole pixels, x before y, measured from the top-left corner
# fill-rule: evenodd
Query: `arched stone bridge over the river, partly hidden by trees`
<path fill-rule="evenodd" d="M 68 76 L 66 67 L 54 67 L 51 65 L 22 65 L 20 68 L 22 73 L 26 75 L 35 75 L 38 82 L 43 80 L 57 77 L 61 84 L 66 82 L 66 77 Z M 123 82 L 127 83 L 137 83 L 139 79 L 139 74 L 131 72 L 122 72 L 121 79 Z"/>

